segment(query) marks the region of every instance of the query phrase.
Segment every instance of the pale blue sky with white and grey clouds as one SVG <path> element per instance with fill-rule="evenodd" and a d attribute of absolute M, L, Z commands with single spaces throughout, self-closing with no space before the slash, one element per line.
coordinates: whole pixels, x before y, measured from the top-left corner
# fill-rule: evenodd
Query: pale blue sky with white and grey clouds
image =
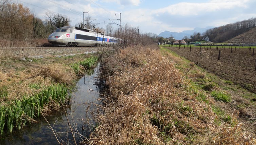
<path fill-rule="evenodd" d="M 256 0 L 13 0 L 30 8 L 38 18 L 46 13 L 68 17 L 71 26 L 87 16 L 91 24 L 119 28 L 128 24 L 140 33 L 182 32 L 196 27 L 218 27 L 256 17 Z M 88 12 L 88 13 L 83 13 Z"/>

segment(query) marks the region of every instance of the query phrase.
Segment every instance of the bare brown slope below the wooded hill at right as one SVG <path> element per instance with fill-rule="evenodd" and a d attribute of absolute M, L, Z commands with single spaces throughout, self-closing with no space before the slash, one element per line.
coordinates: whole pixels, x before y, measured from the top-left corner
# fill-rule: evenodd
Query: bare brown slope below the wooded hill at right
<path fill-rule="evenodd" d="M 252 28 L 251 30 L 240 34 L 228 41 L 226 41 L 227 43 L 239 43 L 242 44 L 244 43 L 245 45 L 250 45 L 250 44 L 256 44 L 256 27 Z"/>

